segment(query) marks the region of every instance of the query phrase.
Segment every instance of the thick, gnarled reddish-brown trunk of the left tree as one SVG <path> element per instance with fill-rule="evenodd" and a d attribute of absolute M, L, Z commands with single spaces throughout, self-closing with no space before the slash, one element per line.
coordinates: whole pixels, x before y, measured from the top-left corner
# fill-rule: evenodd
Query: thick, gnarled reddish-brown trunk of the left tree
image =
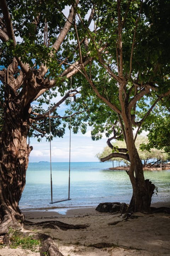
<path fill-rule="evenodd" d="M 6 233 L 9 226 L 22 227 L 24 215 L 18 203 L 26 184 L 28 156 L 32 149 L 27 145 L 28 110 L 8 93 L 4 113 L 0 136 L 0 234 Z"/>

